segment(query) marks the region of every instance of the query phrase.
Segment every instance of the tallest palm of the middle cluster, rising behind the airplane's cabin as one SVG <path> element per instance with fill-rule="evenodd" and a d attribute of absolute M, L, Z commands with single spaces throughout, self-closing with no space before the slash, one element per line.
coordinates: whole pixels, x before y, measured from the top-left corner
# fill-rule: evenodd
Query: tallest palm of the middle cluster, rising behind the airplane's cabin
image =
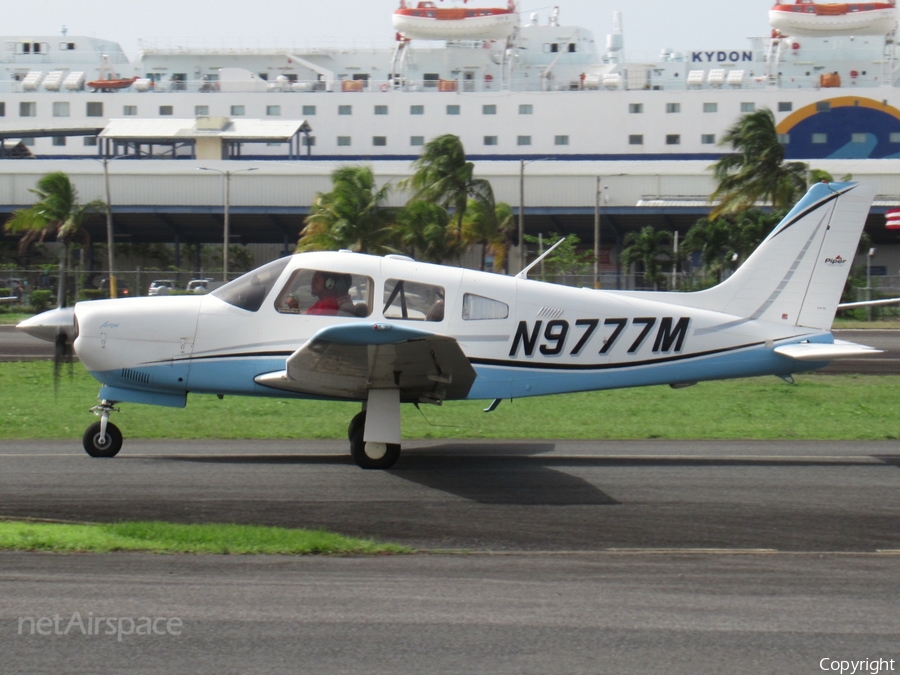
<path fill-rule="evenodd" d="M 412 190 L 413 199 L 432 201 L 452 210 L 458 232 L 462 231 L 470 199 L 493 208 L 491 184 L 474 177 L 475 165 L 466 161 L 458 136 L 444 134 L 431 139 L 412 165 L 413 175 L 402 180 L 400 187 Z"/>

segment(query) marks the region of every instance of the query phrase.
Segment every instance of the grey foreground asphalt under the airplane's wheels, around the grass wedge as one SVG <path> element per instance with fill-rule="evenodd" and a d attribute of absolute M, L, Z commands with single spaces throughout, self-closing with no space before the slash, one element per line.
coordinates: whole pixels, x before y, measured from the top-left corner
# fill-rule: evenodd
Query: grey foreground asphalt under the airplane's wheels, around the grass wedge
<path fill-rule="evenodd" d="M 327 527 L 374 558 L 0 554 L 9 672 L 814 673 L 900 667 L 885 442 L 72 442 L 0 449 L 0 516 Z M 31 634 L 75 613 L 160 635 Z M 164 622 L 159 624 L 166 626 Z M 119 626 L 118 623 L 115 626 Z M 107 624 L 103 626 L 104 630 Z M 882 672 L 889 672 L 886 668 Z"/>

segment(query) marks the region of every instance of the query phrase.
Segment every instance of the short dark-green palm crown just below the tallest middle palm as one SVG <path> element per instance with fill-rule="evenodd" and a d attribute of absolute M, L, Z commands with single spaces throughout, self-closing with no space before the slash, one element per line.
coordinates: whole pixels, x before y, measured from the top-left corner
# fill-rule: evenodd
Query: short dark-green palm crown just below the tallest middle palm
<path fill-rule="evenodd" d="M 450 214 L 440 204 L 414 199 L 397 214 L 397 225 L 403 246 L 421 260 L 441 263 L 465 248 L 450 227 Z"/>

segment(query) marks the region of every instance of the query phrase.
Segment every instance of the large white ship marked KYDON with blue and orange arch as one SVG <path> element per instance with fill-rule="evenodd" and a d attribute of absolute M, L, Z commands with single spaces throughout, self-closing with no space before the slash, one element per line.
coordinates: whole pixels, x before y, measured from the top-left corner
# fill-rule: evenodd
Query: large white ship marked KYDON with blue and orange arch
<path fill-rule="evenodd" d="M 93 37 L 5 37 L 0 134 L 36 157 L 96 156 L 111 119 L 280 119 L 305 120 L 304 159 L 412 159 L 444 133 L 475 159 L 713 159 L 741 114 L 769 108 L 790 158 L 900 157 L 894 0 L 779 2 L 746 47 L 647 61 L 626 58 L 618 13 L 601 47 L 558 8 L 478 5 L 401 0 L 381 49 L 142 42 L 129 59 Z"/>

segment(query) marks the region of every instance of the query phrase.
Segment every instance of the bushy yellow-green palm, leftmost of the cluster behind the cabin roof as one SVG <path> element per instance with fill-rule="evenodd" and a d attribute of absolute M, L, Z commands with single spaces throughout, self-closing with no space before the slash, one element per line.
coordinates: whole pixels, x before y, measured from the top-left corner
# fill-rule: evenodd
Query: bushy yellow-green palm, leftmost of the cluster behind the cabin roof
<path fill-rule="evenodd" d="M 391 246 L 395 213 L 384 206 L 390 184 L 376 189 L 375 176 L 367 166 L 339 167 L 331 181 L 331 192 L 316 195 L 297 250 L 396 252 Z"/>

